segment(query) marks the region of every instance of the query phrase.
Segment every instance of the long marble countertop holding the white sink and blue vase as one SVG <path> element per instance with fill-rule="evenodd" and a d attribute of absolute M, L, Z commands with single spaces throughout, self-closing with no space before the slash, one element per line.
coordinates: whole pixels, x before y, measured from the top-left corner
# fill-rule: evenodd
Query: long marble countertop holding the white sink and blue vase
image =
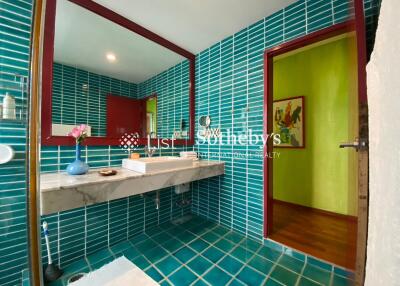
<path fill-rule="evenodd" d="M 51 214 L 82 206 L 142 194 L 183 183 L 224 174 L 224 163 L 194 161 L 193 166 L 142 174 L 113 167 L 114 176 L 101 176 L 91 169 L 81 176 L 65 172 L 40 175 L 41 214 Z"/>

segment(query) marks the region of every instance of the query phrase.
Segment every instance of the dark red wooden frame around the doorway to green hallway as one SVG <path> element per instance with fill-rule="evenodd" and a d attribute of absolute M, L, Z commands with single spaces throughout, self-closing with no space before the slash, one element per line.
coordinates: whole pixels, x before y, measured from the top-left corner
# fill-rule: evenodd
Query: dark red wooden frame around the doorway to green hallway
<path fill-rule="evenodd" d="M 335 37 L 340 34 L 355 32 L 357 41 L 357 65 L 358 65 L 358 99 L 360 108 L 360 118 L 365 116 L 365 109 L 368 108 L 367 101 L 367 84 L 366 84 L 366 64 L 367 64 L 367 49 L 366 49 L 366 32 L 365 32 L 365 19 L 364 19 L 364 3 L 363 0 L 354 0 L 354 14 L 355 17 L 347 22 L 333 25 L 329 28 L 311 33 L 304 37 L 295 39 L 293 41 L 284 43 L 274 48 L 268 49 L 264 52 L 264 136 L 273 132 L 272 128 L 272 103 L 273 103 L 273 58 L 293 51 L 304 46 Z M 364 118 L 365 119 L 365 118 Z M 364 120 L 365 121 L 365 120 Z M 361 119 L 360 119 L 361 122 Z M 364 129 L 364 130 L 363 130 Z M 360 137 L 368 138 L 368 123 L 360 124 Z M 264 146 L 264 237 L 267 238 L 272 231 L 272 195 L 273 195 L 273 181 L 272 181 L 272 160 L 268 159 L 268 152 L 273 150 L 273 142 L 268 140 L 267 145 Z M 363 152 L 359 152 L 363 153 Z M 363 160 L 364 170 L 359 169 L 360 172 L 368 173 L 368 151 L 364 151 Z M 361 155 L 361 154 L 360 154 Z M 359 159 L 359 162 L 360 161 Z M 359 166 L 360 168 L 360 166 Z M 365 170 L 366 169 L 366 170 Z M 364 174 L 365 175 L 365 174 Z M 366 175 L 367 176 L 367 175 Z M 368 181 L 368 178 L 363 178 Z M 365 183 L 365 182 L 364 182 Z M 365 184 L 364 184 L 365 185 Z M 364 188 L 364 194 L 368 196 L 368 184 L 360 187 Z M 365 190 L 366 188 L 366 190 Z M 362 197 L 363 192 L 359 190 L 359 195 Z M 360 200 L 360 198 L 359 198 Z M 368 202 L 364 204 L 367 211 L 360 212 L 359 207 L 359 225 L 357 236 L 357 261 L 356 261 L 356 280 L 357 285 L 363 285 L 365 276 L 365 261 L 366 261 L 366 238 L 367 238 L 367 225 L 368 225 Z M 360 219 L 361 216 L 361 219 Z M 361 225 L 360 225 L 361 223 Z M 361 245 L 362 244 L 362 245 Z"/>

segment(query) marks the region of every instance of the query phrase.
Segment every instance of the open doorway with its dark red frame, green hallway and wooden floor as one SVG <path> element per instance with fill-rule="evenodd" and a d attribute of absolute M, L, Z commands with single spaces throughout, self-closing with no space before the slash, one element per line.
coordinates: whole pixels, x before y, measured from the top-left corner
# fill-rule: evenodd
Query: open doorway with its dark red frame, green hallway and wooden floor
<path fill-rule="evenodd" d="M 356 269 L 357 281 L 368 198 L 362 27 L 337 24 L 264 55 L 264 132 L 276 133 L 278 123 L 294 128 L 283 130 L 281 146 L 264 148 L 265 237 Z M 351 148 L 339 148 L 343 142 Z"/>

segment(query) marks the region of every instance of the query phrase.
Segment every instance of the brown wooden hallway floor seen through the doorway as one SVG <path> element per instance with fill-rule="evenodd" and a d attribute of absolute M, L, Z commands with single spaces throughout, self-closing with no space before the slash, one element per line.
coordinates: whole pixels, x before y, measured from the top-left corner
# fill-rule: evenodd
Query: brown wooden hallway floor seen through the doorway
<path fill-rule="evenodd" d="M 355 219 L 274 201 L 270 238 L 294 249 L 354 269 L 356 235 Z"/>

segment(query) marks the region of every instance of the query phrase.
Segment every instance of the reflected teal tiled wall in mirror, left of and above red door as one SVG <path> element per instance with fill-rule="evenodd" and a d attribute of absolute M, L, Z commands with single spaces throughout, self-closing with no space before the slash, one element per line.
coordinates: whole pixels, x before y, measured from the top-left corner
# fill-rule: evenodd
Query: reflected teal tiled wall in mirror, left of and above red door
<path fill-rule="evenodd" d="M 52 122 L 88 124 L 92 136 L 105 136 L 108 94 L 137 98 L 137 85 L 54 63 Z"/>

